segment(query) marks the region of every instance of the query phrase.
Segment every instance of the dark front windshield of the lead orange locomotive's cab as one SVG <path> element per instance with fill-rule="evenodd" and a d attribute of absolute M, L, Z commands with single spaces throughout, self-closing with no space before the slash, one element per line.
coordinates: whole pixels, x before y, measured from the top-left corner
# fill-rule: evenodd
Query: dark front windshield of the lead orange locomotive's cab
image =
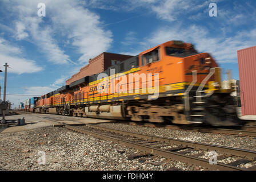
<path fill-rule="evenodd" d="M 187 57 L 195 55 L 198 52 L 195 49 L 185 49 L 185 48 L 174 48 L 174 47 L 165 47 L 166 55 L 175 56 L 175 57 Z"/>

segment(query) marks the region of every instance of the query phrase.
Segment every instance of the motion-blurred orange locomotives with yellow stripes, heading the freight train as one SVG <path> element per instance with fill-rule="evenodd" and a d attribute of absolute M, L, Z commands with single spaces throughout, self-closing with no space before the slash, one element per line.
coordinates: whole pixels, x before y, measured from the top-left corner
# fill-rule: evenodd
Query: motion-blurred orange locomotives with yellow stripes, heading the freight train
<path fill-rule="evenodd" d="M 137 122 L 233 126 L 242 122 L 230 96 L 234 87 L 230 83 L 230 88 L 222 89 L 220 68 L 209 53 L 173 40 L 37 98 L 33 111 Z"/>

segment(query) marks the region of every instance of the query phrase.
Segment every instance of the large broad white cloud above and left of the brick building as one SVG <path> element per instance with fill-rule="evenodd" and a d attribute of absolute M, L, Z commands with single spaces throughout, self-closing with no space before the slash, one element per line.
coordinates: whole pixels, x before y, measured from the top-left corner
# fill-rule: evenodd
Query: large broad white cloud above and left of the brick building
<path fill-rule="evenodd" d="M 97 14 L 78 6 L 78 3 L 66 3 L 61 8 L 55 7 L 54 11 L 57 14 L 52 18 L 54 24 L 61 26 L 59 31 L 62 34 L 67 32 L 72 46 L 82 54 L 78 59 L 81 63 L 110 48 L 112 34 L 103 30 Z"/>

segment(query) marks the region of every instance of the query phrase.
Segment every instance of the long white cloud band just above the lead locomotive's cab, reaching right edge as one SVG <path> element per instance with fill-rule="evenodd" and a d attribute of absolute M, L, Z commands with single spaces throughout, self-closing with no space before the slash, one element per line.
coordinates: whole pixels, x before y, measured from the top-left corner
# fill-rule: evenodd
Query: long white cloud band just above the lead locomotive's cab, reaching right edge
<path fill-rule="evenodd" d="M 237 50 L 255 46 L 256 29 L 237 32 L 234 36 L 214 36 L 201 26 L 161 27 L 150 35 L 146 44 L 157 46 L 169 40 L 195 44 L 199 52 L 209 52 L 219 63 L 237 63 Z"/>

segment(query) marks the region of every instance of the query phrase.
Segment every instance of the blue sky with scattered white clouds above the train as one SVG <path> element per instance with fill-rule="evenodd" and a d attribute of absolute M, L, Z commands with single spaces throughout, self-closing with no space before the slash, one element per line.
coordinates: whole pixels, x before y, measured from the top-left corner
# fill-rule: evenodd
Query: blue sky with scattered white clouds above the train
<path fill-rule="evenodd" d="M 209 16 L 212 2 L 217 17 Z M 45 17 L 38 17 L 38 3 L 45 3 Z M 103 51 L 137 55 L 169 40 L 211 53 L 239 79 L 237 50 L 256 46 L 255 17 L 254 0 L 1 0 L 0 69 L 11 67 L 7 100 L 17 106 L 58 89 Z"/>

